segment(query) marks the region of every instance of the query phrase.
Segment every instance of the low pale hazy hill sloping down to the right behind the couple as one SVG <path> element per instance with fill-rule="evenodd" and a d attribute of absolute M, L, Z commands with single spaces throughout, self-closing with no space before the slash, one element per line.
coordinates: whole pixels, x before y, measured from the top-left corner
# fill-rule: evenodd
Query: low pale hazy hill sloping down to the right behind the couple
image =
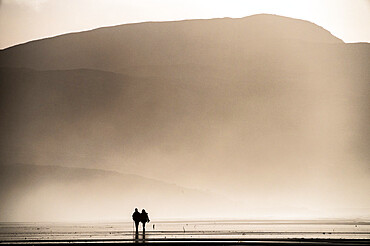
<path fill-rule="evenodd" d="M 135 207 L 154 221 L 217 218 L 238 208 L 205 192 L 99 169 L 0 165 L 0 185 L 2 222 L 130 221 Z"/>

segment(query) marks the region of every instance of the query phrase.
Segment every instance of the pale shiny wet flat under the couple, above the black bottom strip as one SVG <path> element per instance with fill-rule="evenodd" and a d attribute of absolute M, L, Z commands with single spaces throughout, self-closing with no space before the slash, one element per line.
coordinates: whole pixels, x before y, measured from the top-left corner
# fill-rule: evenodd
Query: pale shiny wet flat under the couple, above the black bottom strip
<path fill-rule="evenodd" d="M 141 228 L 140 228 L 141 229 Z M 141 230 L 139 238 L 143 237 Z M 0 242 L 107 240 L 132 242 L 133 223 L 1 223 Z M 370 222 L 354 221 L 159 221 L 145 239 L 370 239 Z"/>

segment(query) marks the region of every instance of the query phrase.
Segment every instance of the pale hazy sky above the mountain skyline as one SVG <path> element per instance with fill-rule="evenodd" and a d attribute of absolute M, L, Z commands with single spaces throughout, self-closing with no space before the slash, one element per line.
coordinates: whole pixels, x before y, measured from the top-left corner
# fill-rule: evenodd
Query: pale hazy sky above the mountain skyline
<path fill-rule="evenodd" d="M 270 13 L 370 41 L 370 0 L 0 0 L 0 49 L 63 33 L 144 21 Z"/>

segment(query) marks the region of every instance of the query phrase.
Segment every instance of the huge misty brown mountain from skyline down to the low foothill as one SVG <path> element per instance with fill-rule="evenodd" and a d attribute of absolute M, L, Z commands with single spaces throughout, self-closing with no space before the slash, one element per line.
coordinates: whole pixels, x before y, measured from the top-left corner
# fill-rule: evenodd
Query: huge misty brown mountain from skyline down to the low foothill
<path fill-rule="evenodd" d="M 0 51 L 1 162 L 135 173 L 247 208 L 366 208 L 369 57 L 271 15 L 18 45 Z"/>

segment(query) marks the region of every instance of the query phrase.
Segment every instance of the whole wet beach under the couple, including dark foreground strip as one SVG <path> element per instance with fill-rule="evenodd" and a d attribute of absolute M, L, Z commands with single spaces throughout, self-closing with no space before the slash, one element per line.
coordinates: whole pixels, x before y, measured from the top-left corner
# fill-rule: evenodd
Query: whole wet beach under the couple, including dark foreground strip
<path fill-rule="evenodd" d="M 0 245 L 370 245 L 366 221 L 1 223 Z"/>

